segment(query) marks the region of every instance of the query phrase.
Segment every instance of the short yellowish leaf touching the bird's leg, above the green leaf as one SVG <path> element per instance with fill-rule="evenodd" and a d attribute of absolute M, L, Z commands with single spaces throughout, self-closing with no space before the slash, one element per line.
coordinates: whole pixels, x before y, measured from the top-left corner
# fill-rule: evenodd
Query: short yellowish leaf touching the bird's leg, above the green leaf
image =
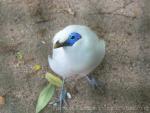
<path fill-rule="evenodd" d="M 46 73 L 45 78 L 53 85 L 61 87 L 62 80 L 51 73 Z"/>

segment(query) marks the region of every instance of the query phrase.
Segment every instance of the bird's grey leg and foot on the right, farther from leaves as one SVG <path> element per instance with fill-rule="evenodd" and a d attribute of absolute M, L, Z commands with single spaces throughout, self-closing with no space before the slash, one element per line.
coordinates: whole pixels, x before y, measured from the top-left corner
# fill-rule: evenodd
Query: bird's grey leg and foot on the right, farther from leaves
<path fill-rule="evenodd" d="M 91 75 L 87 75 L 86 79 L 88 80 L 89 84 L 92 86 L 92 88 L 94 89 L 99 89 L 101 91 L 104 90 L 104 86 L 105 83 L 100 81 L 100 80 L 96 80 L 93 76 Z"/>

